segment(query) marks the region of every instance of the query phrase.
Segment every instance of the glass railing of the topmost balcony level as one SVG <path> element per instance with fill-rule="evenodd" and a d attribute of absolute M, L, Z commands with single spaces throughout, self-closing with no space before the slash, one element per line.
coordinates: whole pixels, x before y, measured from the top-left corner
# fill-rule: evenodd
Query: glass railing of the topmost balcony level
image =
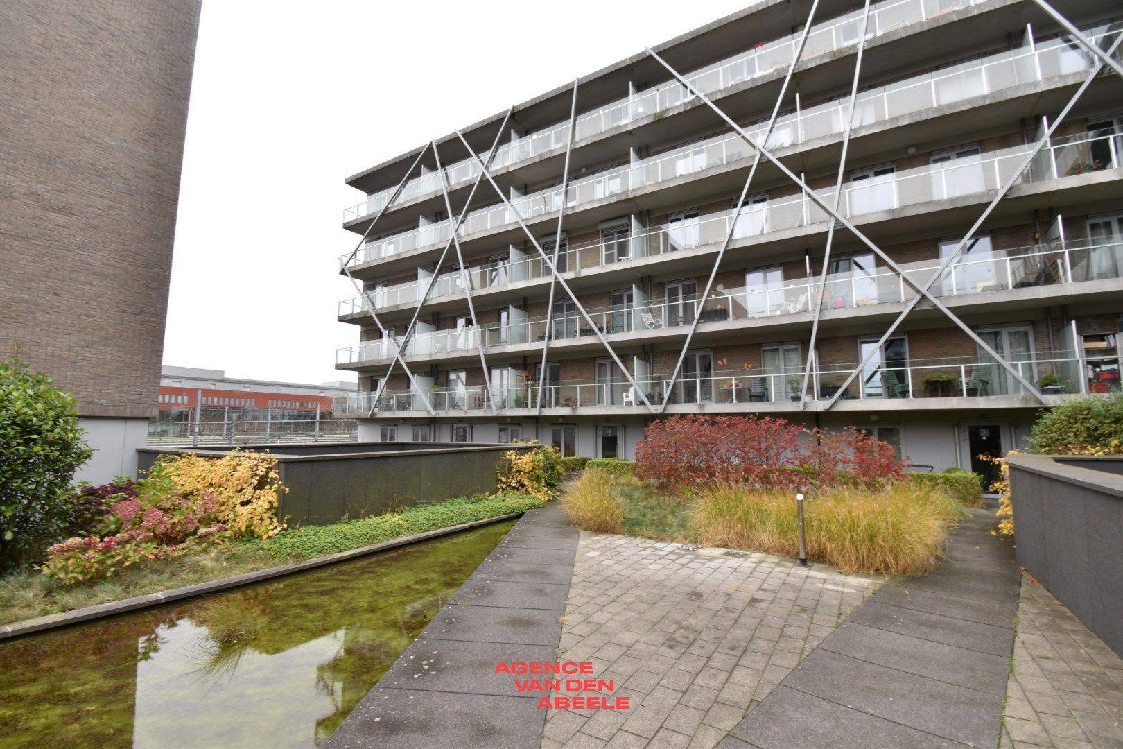
<path fill-rule="evenodd" d="M 871 6 L 867 38 L 874 38 L 887 31 L 982 2 L 985 0 L 886 0 Z M 811 34 L 807 35 L 802 60 L 810 62 L 856 45 L 861 35 L 861 10 L 855 10 L 829 21 L 816 24 Z M 773 71 L 785 68 L 795 60 L 801 36 L 802 33 L 796 33 L 775 42 L 760 44 L 720 63 L 694 71 L 686 76 L 686 80 L 702 93 L 711 94 Z M 574 125 L 574 137 L 576 140 L 590 138 L 614 127 L 666 111 L 692 99 L 693 95 L 677 81 L 663 83 L 654 89 L 640 91 L 627 99 L 614 101 L 578 116 Z M 568 121 L 558 122 L 503 145 L 496 149 L 492 166 L 503 168 L 563 148 L 568 138 Z M 446 173 L 449 185 L 459 185 L 468 180 L 474 180 L 480 173 L 480 167 L 474 158 L 466 158 L 448 165 Z M 387 188 L 346 209 L 344 221 L 351 221 L 382 210 L 395 189 Z M 413 200 L 439 190 L 438 173 L 422 174 L 407 182 L 400 200 Z"/>

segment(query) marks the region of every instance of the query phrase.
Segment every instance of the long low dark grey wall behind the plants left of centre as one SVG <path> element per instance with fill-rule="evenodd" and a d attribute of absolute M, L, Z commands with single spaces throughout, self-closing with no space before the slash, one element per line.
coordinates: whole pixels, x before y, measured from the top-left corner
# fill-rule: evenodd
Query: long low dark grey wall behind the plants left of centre
<path fill-rule="evenodd" d="M 347 445 L 248 445 L 277 458 L 280 517 L 289 526 L 326 526 L 347 518 L 376 515 L 398 508 L 494 492 L 503 453 L 530 445 L 458 442 L 359 442 Z M 141 471 L 161 455 L 194 453 L 222 457 L 230 448 L 145 447 L 137 450 Z"/>

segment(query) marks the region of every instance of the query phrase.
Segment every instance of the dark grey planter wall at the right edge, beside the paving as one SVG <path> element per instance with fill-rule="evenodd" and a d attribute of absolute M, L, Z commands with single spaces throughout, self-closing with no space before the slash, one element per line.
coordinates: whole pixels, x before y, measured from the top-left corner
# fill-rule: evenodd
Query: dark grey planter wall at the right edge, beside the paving
<path fill-rule="evenodd" d="M 1123 458 L 1007 462 L 1019 564 L 1123 655 Z"/>

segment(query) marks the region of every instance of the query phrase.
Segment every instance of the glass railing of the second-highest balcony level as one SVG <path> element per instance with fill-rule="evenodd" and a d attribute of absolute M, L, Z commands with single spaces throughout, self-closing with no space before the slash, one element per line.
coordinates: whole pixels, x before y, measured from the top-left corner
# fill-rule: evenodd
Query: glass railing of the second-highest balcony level
<path fill-rule="evenodd" d="M 1099 26 L 1088 33 L 1097 44 L 1102 44 L 1105 39 L 1114 38 L 1117 30 Z M 999 53 L 866 91 L 857 100 L 853 124 L 855 127 L 862 127 L 912 112 L 933 110 L 1025 83 L 1086 72 L 1094 64 L 1094 56 L 1081 51 L 1069 38 L 1050 39 L 1035 48 Z M 767 146 L 769 149 L 785 148 L 820 137 L 841 135 L 848 112 L 849 100 L 840 99 L 782 117 L 777 119 Z M 764 139 L 767 124 L 758 124 L 748 128 L 748 133 L 759 143 Z M 755 149 L 736 133 L 713 136 L 702 143 L 657 154 L 627 167 L 615 167 L 576 180 L 567 188 L 566 209 L 747 159 L 755 154 Z M 1114 153 L 1112 155 L 1115 156 Z M 515 216 L 530 220 L 551 214 L 562 208 L 562 202 L 560 188 L 553 188 L 514 198 L 511 208 L 500 204 L 480 209 L 468 213 L 458 236 L 463 238 L 511 227 L 515 223 Z M 377 239 L 364 245 L 351 263 L 360 264 L 430 245 L 447 244 L 450 234 L 451 222 L 441 221 Z"/>

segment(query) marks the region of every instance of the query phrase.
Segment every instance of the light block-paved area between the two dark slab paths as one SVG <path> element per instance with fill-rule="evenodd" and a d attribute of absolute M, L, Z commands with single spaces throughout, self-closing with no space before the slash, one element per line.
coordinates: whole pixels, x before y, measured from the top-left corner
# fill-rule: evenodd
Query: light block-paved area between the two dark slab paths
<path fill-rule="evenodd" d="M 562 648 L 628 711 L 551 710 L 541 746 L 714 747 L 878 578 L 582 532 Z"/>

